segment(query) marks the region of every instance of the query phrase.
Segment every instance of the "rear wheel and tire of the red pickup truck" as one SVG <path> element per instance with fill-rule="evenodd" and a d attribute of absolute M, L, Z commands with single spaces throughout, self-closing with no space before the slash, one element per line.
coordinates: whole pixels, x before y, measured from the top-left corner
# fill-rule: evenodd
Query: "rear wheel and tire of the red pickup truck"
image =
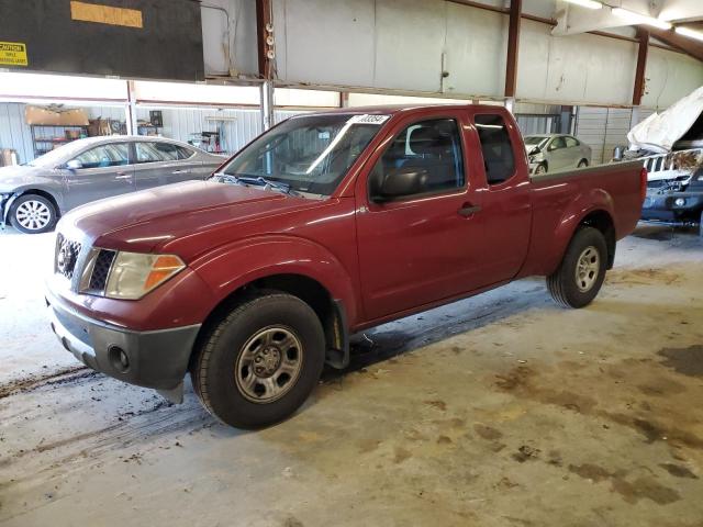
<path fill-rule="evenodd" d="M 559 268 L 547 277 L 551 298 L 565 307 L 583 307 L 598 295 L 605 279 L 607 246 L 603 234 L 580 227 L 567 248 Z M 581 271 L 577 274 L 578 271 Z"/>

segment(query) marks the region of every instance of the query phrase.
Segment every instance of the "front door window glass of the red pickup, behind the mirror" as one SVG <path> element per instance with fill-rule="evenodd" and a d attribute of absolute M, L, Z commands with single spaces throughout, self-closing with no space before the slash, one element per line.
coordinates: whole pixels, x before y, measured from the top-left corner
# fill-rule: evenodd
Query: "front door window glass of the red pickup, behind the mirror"
<path fill-rule="evenodd" d="M 421 173 L 420 184 L 408 197 L 464 187 L 461 139 L 454 119 L 422 121 L 398 134 L 371 171 L 371 195 L 389 175 L 413 171 Z"/>

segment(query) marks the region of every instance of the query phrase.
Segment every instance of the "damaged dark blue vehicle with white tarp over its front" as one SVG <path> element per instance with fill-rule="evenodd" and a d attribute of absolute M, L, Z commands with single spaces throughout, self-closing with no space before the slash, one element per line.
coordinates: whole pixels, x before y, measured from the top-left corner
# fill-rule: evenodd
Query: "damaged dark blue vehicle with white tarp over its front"
<path fill-rule="evenodd" d="M 703 236 L 703 88 L 627 134 L 624 159 L 640 159 L 648 170 L 641 220 L 698 227 Z"/>

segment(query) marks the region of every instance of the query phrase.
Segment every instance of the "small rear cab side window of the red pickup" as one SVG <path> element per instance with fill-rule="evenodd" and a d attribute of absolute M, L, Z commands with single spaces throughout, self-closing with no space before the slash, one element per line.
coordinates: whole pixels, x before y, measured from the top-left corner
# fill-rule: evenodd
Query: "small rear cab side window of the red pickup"
<path fill-rule="evenodd" d="M 501 115 L 482 113 L 473 117 L 479 133 L 483 167 L 489 184 L 500 184 L 515 173 L 515 156 L 505 121 Z"/>

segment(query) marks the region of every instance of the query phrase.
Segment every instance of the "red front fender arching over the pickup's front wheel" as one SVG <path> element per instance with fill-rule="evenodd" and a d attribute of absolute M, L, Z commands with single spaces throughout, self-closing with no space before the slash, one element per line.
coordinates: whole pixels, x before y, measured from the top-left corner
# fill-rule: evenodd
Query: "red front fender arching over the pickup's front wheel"
<path fill-rule="evenodd" d="M 301 274 L 342 301 L 349 324 L 359 316 L 349 270 L 324 246 L 306 238 L 280 234 L 246 238 L 208 253 L 189 267 L 210 285 L 217 303 L 260 278 Z"/>

